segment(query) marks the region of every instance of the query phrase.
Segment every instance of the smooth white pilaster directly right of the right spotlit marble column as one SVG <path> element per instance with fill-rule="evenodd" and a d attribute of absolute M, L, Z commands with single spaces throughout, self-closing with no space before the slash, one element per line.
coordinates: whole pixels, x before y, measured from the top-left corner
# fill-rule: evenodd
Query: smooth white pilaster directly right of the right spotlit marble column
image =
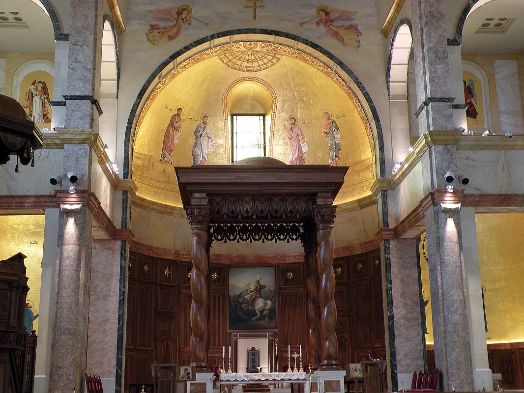
<path fill-rule="evenodd" d="M 492 390 L 492 370 L 489 369 L 484 324 L 484 302 L 482 300 L 481 267 L 478 261 L 477 228 L 475 209 L 462 208 L 461 233 L 464 249 L 464 267 L 466 271 L 468 302 L 468 321 L 470 323 L 471 359 L 475 390 L 485 385 Z"/>

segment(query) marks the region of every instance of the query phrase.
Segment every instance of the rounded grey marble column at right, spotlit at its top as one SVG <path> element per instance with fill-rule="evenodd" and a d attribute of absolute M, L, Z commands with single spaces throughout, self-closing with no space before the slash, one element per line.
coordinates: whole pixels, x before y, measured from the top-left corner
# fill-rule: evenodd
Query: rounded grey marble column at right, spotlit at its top
<path fill-rule="evenodd" d="M 443 202 L 434 200 L 424 214 L 435 363 L 442 372 L 444 391 L 451 391 L 452 385 L 457 391 L 472 391 L 474 385 L 460 212 L 456 208 L 445 208 Z M 449 211 L 443 211 L 443 208 Z"/>

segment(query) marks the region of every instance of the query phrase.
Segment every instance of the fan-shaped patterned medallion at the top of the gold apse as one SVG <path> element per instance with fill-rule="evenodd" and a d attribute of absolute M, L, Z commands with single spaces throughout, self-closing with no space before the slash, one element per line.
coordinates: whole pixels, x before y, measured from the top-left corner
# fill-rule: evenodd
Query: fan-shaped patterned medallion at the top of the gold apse
<path fill-rule="evenodd" d="M 266 70 L 280 61 L 281 54 L 271 53 L 266 42 L 238 42 L 236 48 L 219 54 L 227 67 L 237 71 L 256 72 Z"/>

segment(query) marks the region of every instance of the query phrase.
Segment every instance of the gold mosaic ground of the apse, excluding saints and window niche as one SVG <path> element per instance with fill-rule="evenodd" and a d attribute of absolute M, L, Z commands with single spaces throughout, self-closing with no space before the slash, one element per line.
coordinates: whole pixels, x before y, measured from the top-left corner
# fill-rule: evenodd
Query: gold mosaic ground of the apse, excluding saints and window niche
<path fill-rule="evenodd" d="M 283 126 L 288 117 L 294 115 L 308 141 L 306 164 L 329 164 L 321 125 L 322 113 L 330 110 L 341 129 L 340 165 L 350 166 L 335 203 L 369 196 L 370 186 L 376 179 L 375 159 L 381 135 L 377 133 L 378 122 L 373 121 L 373 111 L 363 105 L 367 102 L 363 92 L 349 75 L 341 78 L 341 69 L 326 65 L 302 47 L 290 46 L 289 40 L 284 45 L 261 40 L 265 37 L 260 35 L 242 38 L 238 42 L 215 42 L 211 48 L 191 50 L 191 56 L 171 62 L 168 69 L 161 72 L 163 77 L 154 79 L 148 86 L 132 122 L 132 176 L 138 186 L 137 199 L 181 205 L 172 167 L 191 165 L 193 131 L 204 113 L 210 115 L 210 131 L 215 138 L 215 150 L 209 152 L 208 163 L 227 165 L 231 162 L 225 97 L 228 89 L 243 78 L 256 80 L 256 84 L 269 91 L 273 106 L 277 102 L 273 97 L 278 97 L 278 108 L 271 118 L 274 126 L 269 136 L 268 156 L 288 162 L 289 140 Z M 255 73 L 256 79 L 250 76 Z M 163 143 L 170 139 L 168 124 L 179 107 L 183 108 L 184 123 L 180 138 L 172 144 L 172 162 L 169 162 L 161 158 Z M 379 156 L 379 160 L 383 160 L 381 152 Z"/>

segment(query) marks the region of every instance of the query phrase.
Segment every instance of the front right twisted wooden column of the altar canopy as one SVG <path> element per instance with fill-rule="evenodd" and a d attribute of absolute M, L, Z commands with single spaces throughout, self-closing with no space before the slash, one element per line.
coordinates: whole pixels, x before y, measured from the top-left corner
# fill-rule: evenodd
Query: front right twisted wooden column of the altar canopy
<path fill-rule="evenodd" d="M 319 245 L 319 308 L 320 341 L 322 345 L 321 369 L 339 367 L 339 347 L 336 341 L 335 272 L 333 270 L 333 240 L 331 232 L 335 221 L 335 206 L 316 205 L 316 241 Z"/>

